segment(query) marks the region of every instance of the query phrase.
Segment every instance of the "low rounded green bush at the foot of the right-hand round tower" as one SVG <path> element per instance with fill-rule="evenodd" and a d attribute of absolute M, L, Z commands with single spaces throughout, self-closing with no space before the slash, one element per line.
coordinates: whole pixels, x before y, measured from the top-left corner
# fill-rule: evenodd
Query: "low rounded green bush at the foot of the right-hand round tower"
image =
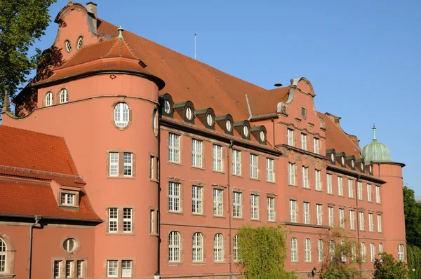
<path fill-rule="evenodd" d="M 406 279 L 408 278 L 408 269 L 406 264 L 396 261 L 392 254 L 382 252 L 380 259 L 374 261 L 374 277 L 376 279 Z"/>

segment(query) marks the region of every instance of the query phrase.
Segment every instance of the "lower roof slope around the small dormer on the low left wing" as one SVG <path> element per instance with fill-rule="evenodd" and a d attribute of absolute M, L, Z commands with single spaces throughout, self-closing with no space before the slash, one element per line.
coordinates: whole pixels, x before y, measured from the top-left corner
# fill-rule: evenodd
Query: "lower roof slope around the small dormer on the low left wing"
<path fill-rule="evenodd" d="M 101 221 L 83 192 L 79 194 L 79 210 L 58 207 L 51 186 L 42 182 L 0 179 L 0 196 L 0 215 Z"/>

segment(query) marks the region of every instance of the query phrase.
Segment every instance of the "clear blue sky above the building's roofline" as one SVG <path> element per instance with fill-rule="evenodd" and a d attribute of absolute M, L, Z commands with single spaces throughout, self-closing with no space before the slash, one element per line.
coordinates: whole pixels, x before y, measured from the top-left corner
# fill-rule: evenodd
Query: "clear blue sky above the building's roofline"
<path fill-rule="evenodd" d="M 305 76 L 318 111 L 373 137 L 406 163 L 404 184 L 421 196 L 421 1 L 97 0 L 98 17 L 263 88 Z M 67 0 L 51 6 L 52 20 Z M 36 47 L 51 46 L 55 23 Z"/>

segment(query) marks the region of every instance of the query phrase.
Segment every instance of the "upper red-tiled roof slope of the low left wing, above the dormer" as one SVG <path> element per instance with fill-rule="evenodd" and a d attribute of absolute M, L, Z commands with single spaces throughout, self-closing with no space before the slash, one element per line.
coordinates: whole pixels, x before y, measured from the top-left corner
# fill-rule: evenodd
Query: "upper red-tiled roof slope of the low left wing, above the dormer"
<path fill-rule="evenodd" d="M 0 165 L 78 175 L 64 138 L 0 125 Z"/>

